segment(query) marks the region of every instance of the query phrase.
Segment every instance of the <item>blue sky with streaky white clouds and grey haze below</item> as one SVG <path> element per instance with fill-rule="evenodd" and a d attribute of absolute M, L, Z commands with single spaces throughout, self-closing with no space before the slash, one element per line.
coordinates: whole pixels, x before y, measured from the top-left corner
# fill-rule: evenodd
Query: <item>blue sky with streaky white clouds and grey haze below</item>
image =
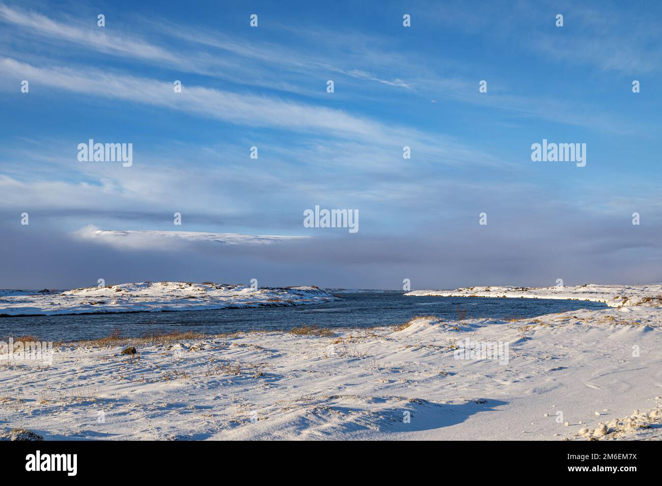
<path fill-rule="evenodd" d="M 661 282 L 661 14 L 0 0 L 0 288 Z M 132 164 L 79 160 L 90 139 Z M 532 161 L 543 140 L 585 144 L 586 165 Z M 305 226 L 315 206 L 358 231 Z"/>

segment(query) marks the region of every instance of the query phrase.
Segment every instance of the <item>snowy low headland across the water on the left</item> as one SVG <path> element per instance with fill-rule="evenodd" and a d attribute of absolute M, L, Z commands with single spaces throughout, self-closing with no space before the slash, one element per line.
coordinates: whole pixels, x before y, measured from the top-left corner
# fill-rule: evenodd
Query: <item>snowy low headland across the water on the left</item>
<path fill-rule="evenodd" d="M 193 311 L 320 304 L 336 300 L 316 287 L 252 288 L 228 284 L 142 282 L 75 290 L 0 290 L 0 315 Z"/>

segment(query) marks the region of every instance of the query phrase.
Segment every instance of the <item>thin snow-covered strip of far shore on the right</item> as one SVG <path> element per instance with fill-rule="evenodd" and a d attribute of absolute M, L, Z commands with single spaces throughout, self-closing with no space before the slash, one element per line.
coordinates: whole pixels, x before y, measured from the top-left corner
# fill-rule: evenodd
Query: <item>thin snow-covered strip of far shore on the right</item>
<path fill-rule="evenodd" d="M 406 296 L 507 297 L 525 299 L 571 299 L 604 302 L 611 307 L 661 305 L 662 284 L 651 285 L 578 285 L 575 287 L 466 287 L 456 290 L 412 290 Z"/>

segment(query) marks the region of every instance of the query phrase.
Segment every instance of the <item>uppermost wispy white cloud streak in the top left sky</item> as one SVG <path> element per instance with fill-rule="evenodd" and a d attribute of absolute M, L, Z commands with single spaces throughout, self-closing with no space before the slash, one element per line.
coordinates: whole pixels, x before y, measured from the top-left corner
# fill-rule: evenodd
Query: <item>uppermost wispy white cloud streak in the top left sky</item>
<path fill-rule="evenodd" d="M 283 77 L 283 69 L 291 73 L 307 75 L 324 72 L 342 73 L 354 79 L 377 81 L 391 87 L 412 88 L 410 83 L 402 79 L 381 78 L 361 69 L 320 63 L 314 60 L 312 54 L 303 52 L 295 54 L 287 46 L 263 42 L 260 46 L 256 46 L 219 32 L 200 28 L 191 29 L 167 20 L 160 20 L 158 23 L 154 20 L 141 20 L 152 33 L 159 33 L 163 45 L 117 29 L 113 34 L 107 34 L 105 29 L 95 26 L 85 28 L 81 26 L 81 22 L 71 17 L 56 20 L 39 13 L 26 13 L 3 4 L 0 4 L 0 20 L 23 29 L 30 36 L 39 36 L 56 44 L 75 44 L 85 50 L 97 50 L 113 56 L 134 58 L 160 66 L 166 65 L 185 72 L 295 93 L 303 93 L 303 90 L 297 87 L 293 80 L 288 82 L 279 79 Z M 167 40 L 165 44 L 164 39 Z M 191 48 L 190 45 L 186 48 L 179 42 L 181 40 L 197 46 L 214 48 L 215 52 L 201 52 Z M 224 56 L 214 55 L 219 51 Z M 256 60 L 261 64 L 256 65 L 254 63 Z M 248 62 L 252 63 L 251 67 L 247 67 Z M 275 71 L 279 73 L 278 76 L 274 75 Z M 238 76 L 240 79 L 237 78 Z"/>

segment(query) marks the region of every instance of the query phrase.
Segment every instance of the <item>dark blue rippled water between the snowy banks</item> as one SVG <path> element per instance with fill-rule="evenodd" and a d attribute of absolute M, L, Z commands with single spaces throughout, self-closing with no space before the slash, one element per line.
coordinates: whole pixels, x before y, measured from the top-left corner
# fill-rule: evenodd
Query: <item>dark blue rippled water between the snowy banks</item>
<path fill-rule="evenodd" d="M 344 300 L 338 302 L 299 307 L 4 317 L 0 318 L 0 339 L 9 335 L 34 335 L 44 341 L 74 341 L 105 337 L 115 329 L 120 329 L 124 336 L 137 337 L 156 332 L 217 334 L 289 329 L 301 325 L 370 327 L 404 323 L 416 315 L 457 319 L 457 307 L 467 312 L 467 319 L 536 317 L 552 312 L 606 307 L 598 302 L 577 300 L 404 297 L 401 292 L 365 292 L 343 294 L 343 297 Z"/>

